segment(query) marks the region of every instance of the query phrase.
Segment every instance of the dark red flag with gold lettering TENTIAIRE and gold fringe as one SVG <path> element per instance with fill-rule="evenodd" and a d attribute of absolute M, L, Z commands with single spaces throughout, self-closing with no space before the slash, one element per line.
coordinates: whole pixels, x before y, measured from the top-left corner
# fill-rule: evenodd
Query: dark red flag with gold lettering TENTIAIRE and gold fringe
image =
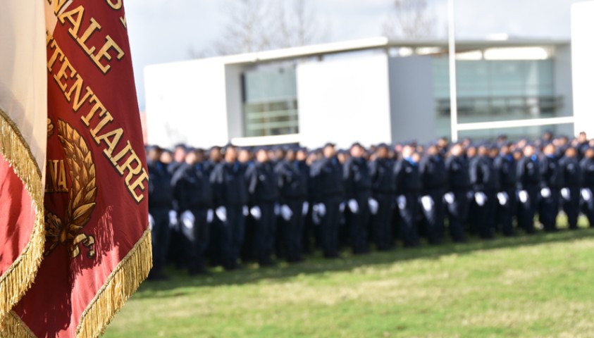
<path fill-rule="evenodd" d="M 97 337 L 151 268 L 126 19 L 121 0 L 43 2 L 46 244 L 6 326 L 20 336 Z"/>

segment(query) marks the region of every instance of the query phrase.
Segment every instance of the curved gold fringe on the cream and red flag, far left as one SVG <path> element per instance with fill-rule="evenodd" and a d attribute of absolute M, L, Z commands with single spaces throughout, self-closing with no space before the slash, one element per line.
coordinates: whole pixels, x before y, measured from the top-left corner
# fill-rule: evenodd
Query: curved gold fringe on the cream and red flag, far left
<path fill-rule="evenodd" d="M 27 246 L 0 277 L 0 318 L 4 318 L 35 280 L 43 258 L 45 232 L 42 170 L 16 124 L 1 109 L 0 154 L 25 184 L 35 210 L 35 225 Z M 4 325 L 0 325 L 0 335 L 4 337 L 3 329 Z"/>

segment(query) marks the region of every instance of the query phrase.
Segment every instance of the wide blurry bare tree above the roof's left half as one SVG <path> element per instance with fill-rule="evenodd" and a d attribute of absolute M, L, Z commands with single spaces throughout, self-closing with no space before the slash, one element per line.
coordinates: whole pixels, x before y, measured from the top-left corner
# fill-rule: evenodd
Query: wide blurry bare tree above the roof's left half
<path fill-rule="evenodd" d="M 209 49 L 190 56 L 204 57 L 303 46 L 320 41 L 321 27 L 307 0 L 227 0 L 227 24 Z"/>

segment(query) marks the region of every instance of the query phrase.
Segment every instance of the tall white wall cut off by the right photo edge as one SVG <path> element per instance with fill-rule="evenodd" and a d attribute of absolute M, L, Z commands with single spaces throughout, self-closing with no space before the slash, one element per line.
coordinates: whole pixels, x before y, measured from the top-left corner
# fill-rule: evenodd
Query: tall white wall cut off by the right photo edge
<path fill-rule="evenodd" d="M 594 137 L 594 1 L 571 5 L 571 58 L 576 133 Z"/>

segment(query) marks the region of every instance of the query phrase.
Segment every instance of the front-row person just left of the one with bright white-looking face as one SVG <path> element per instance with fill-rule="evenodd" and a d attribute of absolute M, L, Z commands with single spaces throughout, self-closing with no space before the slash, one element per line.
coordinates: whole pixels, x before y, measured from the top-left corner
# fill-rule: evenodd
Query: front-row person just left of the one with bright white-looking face
<path fill-rule="evenodd" d="M 380 251 L 390 250 L 394 246 L 391 220 L 396 200 L 396 176 L 394 175 L 395 162 L 389 156 L 388 145 L 379 144 L 375 160 L 369 163 L 373 199 L 377 201 L 376 214 L 371 216 L 371 229 L 373 242 Z M 370 206 L 371 208 L 373 205 Z"/>

